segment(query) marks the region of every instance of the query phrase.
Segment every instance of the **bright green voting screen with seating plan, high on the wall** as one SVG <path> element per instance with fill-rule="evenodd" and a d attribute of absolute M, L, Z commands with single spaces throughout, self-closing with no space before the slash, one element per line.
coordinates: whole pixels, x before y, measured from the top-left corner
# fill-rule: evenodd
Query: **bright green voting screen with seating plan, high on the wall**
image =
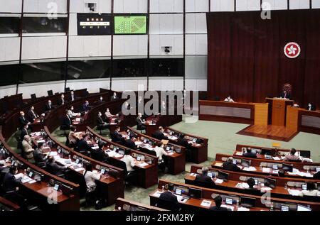
<path fill-rule="evenodd" d="M 145 34 L 146 16 L 114 16 L 114 34 Z"/>

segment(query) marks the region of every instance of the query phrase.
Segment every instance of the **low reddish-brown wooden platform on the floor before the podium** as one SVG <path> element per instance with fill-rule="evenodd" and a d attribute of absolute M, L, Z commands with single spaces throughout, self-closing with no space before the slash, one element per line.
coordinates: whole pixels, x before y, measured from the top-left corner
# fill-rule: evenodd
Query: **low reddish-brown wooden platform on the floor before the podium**
<path fill-rule="evenodd" d="M 239 131 L 237 134 L 252 136 L 258 138 L 267 138 L 277 141 L 290 141 L 297 135 L 296 131 L 292 131 L 285 126 L 272 126 L 272 125 L 250 125 Z"/>

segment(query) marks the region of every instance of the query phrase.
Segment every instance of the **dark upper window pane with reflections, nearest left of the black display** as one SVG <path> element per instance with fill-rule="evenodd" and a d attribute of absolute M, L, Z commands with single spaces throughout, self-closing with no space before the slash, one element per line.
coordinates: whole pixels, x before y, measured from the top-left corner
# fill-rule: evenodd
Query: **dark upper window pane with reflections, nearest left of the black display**
<path fill-rule="evenodd" d="M 23 17 L 23 33 L 65 33 L 67 18 Z"/>

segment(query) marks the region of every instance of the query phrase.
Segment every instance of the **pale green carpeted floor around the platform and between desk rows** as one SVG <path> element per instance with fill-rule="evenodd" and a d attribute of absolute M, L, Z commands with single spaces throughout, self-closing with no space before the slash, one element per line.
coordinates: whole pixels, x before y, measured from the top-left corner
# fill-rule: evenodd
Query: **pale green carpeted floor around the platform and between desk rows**
<path fill-rule="evenodd" d="M 196 136 L 209 138 L 208 144 L 208 161 L 201 165 L 209 166 L 214 160 L 216 153 L 232 154 L 237 144 L 247 144 L 252 146 L 271 147 L 273 142 L 281 143 L 282 148 L 297 148 L 302 150 L 311 150 L 311 158 L 314 162 L 320 162 L 320 138 L 319 135 L 300 132 L 289 142 L 273 141 L 264 138 L 255 138 L 250 136 L 242 136 L 236 134 L 238 131 L 245 128 L 246 124 L 233 124 L 214 121 L 197 121 L 194 124 L 181 122 L 175 124 L 172 128 L 185 133 L 191 133 Z M 103 136 L 108 137 L 109 133 L 104 131 Z M 60 131 L 55 131 L 54 136 L 58 141 L 65 142 L 65 138 L 60 136 Z M 9 139 L 9 145 L 16 146 L 14 138 Z M 192 163 L 186 164 L 186 171 L 190 171 Z M 184 182 L 186 172 L 179 175 L 160 175 L 159 179 L 172 180 L 175 182 Z M 124 198 L 149 204 L 149 194 L 156 189 L 156 185 L 143 189 L 139 187 L 128 187 L 124 192 Z M 102 210 L 113 210 L 114 205 L 106 207 Z M 84 208 L 81 210 L 94 210 L 94 208 Z"/>

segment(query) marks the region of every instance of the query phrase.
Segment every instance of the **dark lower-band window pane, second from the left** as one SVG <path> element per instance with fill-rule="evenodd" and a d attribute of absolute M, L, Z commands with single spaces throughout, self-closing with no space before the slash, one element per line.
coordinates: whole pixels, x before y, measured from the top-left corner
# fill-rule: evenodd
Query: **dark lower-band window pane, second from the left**
<path fill-rule="evenodd" d="M 64 80 L 65 62 L 43 62 L 22 65 L 20 83 Z"/>

